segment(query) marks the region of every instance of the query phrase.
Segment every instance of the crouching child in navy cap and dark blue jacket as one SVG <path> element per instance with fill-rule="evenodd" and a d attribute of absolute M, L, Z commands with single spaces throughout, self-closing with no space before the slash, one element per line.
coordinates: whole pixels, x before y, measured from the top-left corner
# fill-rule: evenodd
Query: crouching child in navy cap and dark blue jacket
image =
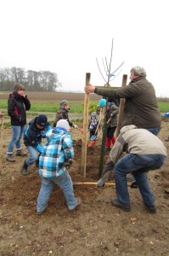
<path fill-rule="evenodd" d="M 23 175 L 29 174 L 27 168 L 32 166 L 42 153 L 42 138 L 46 137 L 46 131 L 50 130 L 51 126 L 48 123 L 45 114 L 38 115 L 35 119 L 31 119 L 29 125 L 24 131 L 24 144 L 30 156 L 26 158 L 20 172 Z M 37 151 L 39 155 L 37 155 Z"/>

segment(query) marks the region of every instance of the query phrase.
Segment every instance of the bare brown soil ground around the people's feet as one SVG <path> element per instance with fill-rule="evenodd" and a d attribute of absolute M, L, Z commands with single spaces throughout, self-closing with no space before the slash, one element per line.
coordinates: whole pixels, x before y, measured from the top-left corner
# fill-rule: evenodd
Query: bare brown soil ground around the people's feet
<path fill-rule="evenodd" d="M 80 126 L 82 124 L 79 124 Z M 82 127 L 82 126 L 81 126 Z M 96 182 L 99 172 L 100 142 L 87 148 L 87 177 L 78 171 L 81 167 L 82 134 L 71 130 L 75 146 L 75 160 L 70 168 L 74 183 Z M 169 133 L 169 119 L 163 118 L 159 134 Z M 4 130 L 3 166 L 0 175 L 0 255 L 169 255 L 169 160 L 155 172 L 149 172 L 149 183 L 155 194 L 157 213 L 146 212 L 138 189 L 129 188 L 131 212 L 112 207 L 115 186 L 97 189 L 95 185 L 74 185 L 82 205 L 68 212 L 62 191 L 55 187 L 48 209 L 38 216 L 37 195 L 41 186 L 36 166 L 28 176 L 20 174 L 25 158 L 16 162 L 5 160 L 11 138 L 10 128 Z M 23 146 L 23 149 L 24 146 Z M 108 154 L 104 156 L 107 159 Z"/>

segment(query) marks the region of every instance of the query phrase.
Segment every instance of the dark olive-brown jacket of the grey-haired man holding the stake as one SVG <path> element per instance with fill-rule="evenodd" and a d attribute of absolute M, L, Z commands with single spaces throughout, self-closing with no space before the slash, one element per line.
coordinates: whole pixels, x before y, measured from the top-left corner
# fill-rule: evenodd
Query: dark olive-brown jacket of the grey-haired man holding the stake
<path fill-rule="evenodd" d="M 95 93 L 101 96 L 125 98 L 121 127 L 136 125 L 138 128 L 161 126 L 161 113 L 157 105 L 155 89 L 145 78 L 133 79 L 120 89 L 99 89 Z"/>

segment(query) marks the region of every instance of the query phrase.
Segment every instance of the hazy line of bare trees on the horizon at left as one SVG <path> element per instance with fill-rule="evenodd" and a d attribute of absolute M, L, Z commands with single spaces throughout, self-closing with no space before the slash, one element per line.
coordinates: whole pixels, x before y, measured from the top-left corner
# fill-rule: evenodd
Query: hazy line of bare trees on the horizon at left
<path fill-rule="evenodd" d="M 26 90 L 54 91 L 61 86 L 57 73 L 25 70 L 20 67 L 0 68 L 0 89 L 13 90 L 14 84 L 24 85 Z"/>

